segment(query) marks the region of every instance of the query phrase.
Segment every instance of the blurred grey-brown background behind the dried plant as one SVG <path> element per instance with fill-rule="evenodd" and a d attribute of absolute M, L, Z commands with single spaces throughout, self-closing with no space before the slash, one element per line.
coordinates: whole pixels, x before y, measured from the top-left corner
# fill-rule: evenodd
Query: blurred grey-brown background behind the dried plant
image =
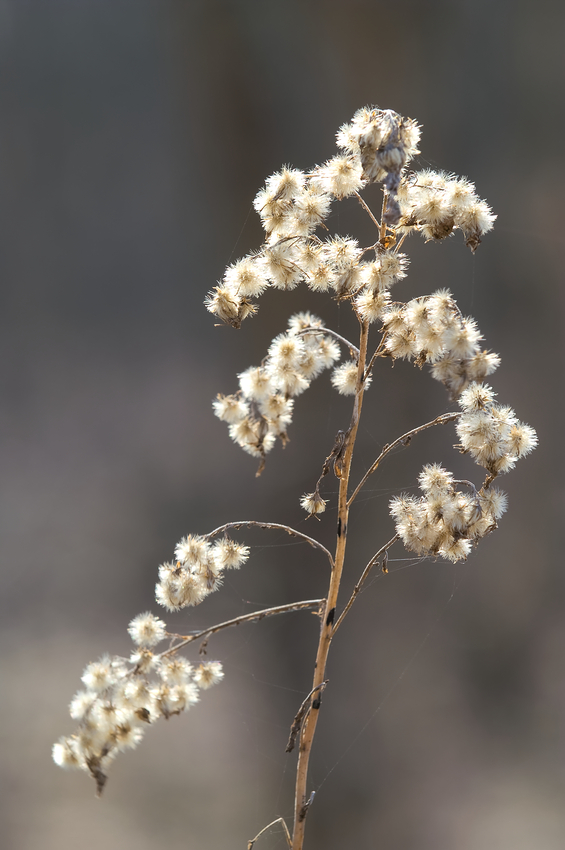
<path fill-rule="evenodd" d="M 261 241 L 252 200 L 283 163 L 308 169 L 376 103 L 423 124 L 417 167 L 470 177 L 498 214 L 411 237 L 398 297 L 451 288 L 502 356 L 492 383 L 539 449 L 500 485 L 509 512 L 465 564 L 391 552 L 336 641 L 312 762 L 307 847 L 557 850 L 565 842 L 563 94 L 553 0 L 0 0 L 2 846 L 242 848 L 292 820 L 284 748 L 310 689 L 308 613 L 210 641 L 226 678 L 115 762 L 104 798 L 59 770 L 83 667 L 128 654 L 156 567 L 186 533 L 305 524 L 349 403 L 323 375 L 262 477 L 214 418 L 299 309 L 347 335 L 346 306 L 268 292 L 240 331 L 202 305 Z M 355 204 L 335 232 L 371 239 Z M 366 243 L 365 243 L 366 244 Z M 453 409 L 426 370 L 382 362 L 355 476 L 381 446 Z M 388 500 L 425 462 L 480 481 L 434 429 L 389 457 L 350 525 L 344 601 L 392 534 Z M 335 483 L 326 479 L 331 498 Z M 245 569 L 184 631 L 324 593 L 323 558 L 244 532 Z M 280 830 L 262 839 L 283 847 Z M 260 847 L 261 845 L 258 845 Z"/>

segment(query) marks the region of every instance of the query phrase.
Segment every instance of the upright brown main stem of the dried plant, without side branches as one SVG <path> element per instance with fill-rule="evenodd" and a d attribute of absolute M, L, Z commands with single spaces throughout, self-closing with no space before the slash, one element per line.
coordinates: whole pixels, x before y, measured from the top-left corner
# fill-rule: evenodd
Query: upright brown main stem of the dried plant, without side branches
<path fill-rule="evenodd" d="M 361 415 L 361 405 L 363 403 L 364 393 L 364 375 L 365 363 L 367 360 L 367 342 L 369 335 L 369 325 L 367 322 L 362 322 L 359 341 L 359 359 L 357 363 L 357 385 L 355 392 L 355 403 L 353 406 L 353 415 L 351 425 L 347 432 L 346 444 L 343 451 L 342 463 L 340 465 L 340 482 L 339 482 L 339 497 L 338 497 L 338 519 L 337 519 L 337 542 L 334 557 L 334 568 L 330 577 L 330 585 L 328 588 L 327 601 L 323 613 L 322 628 L 320 630 L 320 640 L 318 643 L 318 651 L 316 654 L 316 663 L 314 665 L 314 678 L 312 682 L 312 692 L 317 696 L 312 700 L 310 707 L 306 711 L 302 733 L 300 735 L 298 765 L 296 768 L 296 786 L 294 795 L 294 829 L 292 833 L 292 850 L 302 850 L 304 845 L 304 829 L 306 825 L 306 815 L 312 802 L 312 796 L 306 793 L 306 785 L 308 781 L 308 763 L 310 753 L 312 751 L 312 743 L 318 723 L 318 715 L 320 713 L 321 698 L 318 689 L 324 682 L 326 676 L 326 664 L 328 653 L 332 640 L 333 622 L 335 618 L 335 610 L 337 605 L 337 597 L 341 576 L 343 572 L 343 564 L 345 561 L 345 547 L 347 542 L 347 520 L 349 515 L 349 506 L 347 503 L 347 488 L 349 484 L 349 474 L 351 470 L 351 460 L 353 457 L 353 449 L 355 447 L 355 439 L 357 437 L 357 428 L 359 426 L 359 417 Z"/>

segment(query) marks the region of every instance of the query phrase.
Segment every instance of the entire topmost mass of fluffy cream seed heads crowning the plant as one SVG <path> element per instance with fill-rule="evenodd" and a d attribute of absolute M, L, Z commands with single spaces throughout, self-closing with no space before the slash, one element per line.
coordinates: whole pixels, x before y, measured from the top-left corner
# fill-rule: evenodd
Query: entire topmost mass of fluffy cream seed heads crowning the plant
<path fill-rule="evenodd" d="M 358 315 L 374 322 L 389 304 L 392 284 L 406 276 L 406 257 L 393 248 L 399 236 L 420 231 L 426 239 L 442 239 L 458 227 L 474 251 L 495 216 L 466 179 L 407 173 L 419 138 L 411 118 L 365 107 L 337 133 L 342 153 L 308 173 L 284 167 L 272 174 L 254 202 L 265 244 L 228 266 L 208 294 L 208 310 L 239 328 L 267 288 L 290 290 L 304 281 L 315 292 L 353 299 Z M 334 201 L 374 182 L 383 184 L 385 202 L 375 260 L 367 262 L 355 239 L 327 236 L 324 221 Z M 321 225 L 324 238 L 316 235 Z"/>

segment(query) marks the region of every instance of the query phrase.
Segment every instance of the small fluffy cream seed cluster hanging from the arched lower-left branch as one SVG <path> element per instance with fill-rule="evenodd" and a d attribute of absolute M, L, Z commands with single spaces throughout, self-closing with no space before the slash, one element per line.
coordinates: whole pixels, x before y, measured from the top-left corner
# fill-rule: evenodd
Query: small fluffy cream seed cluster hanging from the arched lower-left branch
<path fill-rule="evenodd" d="M 155 598 L 169 611 L 199 605 L 221 587 L 224 570 L 239 569 L 248 557 L 249 547 L 229 537 L 211 542 L 189 534 L 175 547 L 175 560 L 159 567 Z"/>

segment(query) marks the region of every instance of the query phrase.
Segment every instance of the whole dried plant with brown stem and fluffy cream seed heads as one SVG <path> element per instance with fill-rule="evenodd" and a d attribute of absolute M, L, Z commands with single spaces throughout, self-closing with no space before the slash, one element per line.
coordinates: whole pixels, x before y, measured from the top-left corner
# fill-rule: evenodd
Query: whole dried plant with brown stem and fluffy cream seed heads
<path fill-rule="evenodd" d="M 266 232 L 264 245 L 233 265 L 206 299 L 208 310 L 239 328 L 257 312 L 256 300 L 269 288 L 291 290 L 305 284 L 347 302 L 359 322 L 359 340 L 344 339 L 310 313 L 293 315 L 287 329 L 272 341 L 260 366 L 240 374 L 239 390 L 219 395 L 216 415 L 226 422 L 230 437 L 259 461 L 279 439 L 284 445 L 292 421 L 295 398 L 325 369 L 333 369 L 335 389 L 353 400 L 351 419 L 328 446 L 321 475 L 301 506 L 319 517 L 326 509 L 322 483 L 326 475 L 339 481 L 337 541 L 334 552 L 313 537 L 286 525 L 236 521 L 208 534 L 189 534 L 174 550 L 172 561 L 159 567 L 157 602 L 169 611 L 199 605 L 222 584 L 225 570 L 239 569 L 249 549 L 231 532 L 244 527 L 278 529 L 309 543 L 328 561 L 329 584 L 323 597 L 255 611 L 188 635 L 167 631 L 151 613 L 140 614 L 128 631 L 135 644 L 129 659 L 105 656 L 89 664 L 82 676 L 84 690 L 70 706 L 79 722 L 77 731 L 53 748 L 62 767 L 79 768 L 94 778 L 98 793 L 107 769 L 118 752 L 136 746 L 144 731 L 159 717 L 180 714 L 198 701 L 200 691 L 223 678 L 219 661 L 194 668 L 180 650 L 202 642 L 223 629 L 277 614 L 314 610 L 320 634 L 312 688 L 291 725 L 287 750 L 298 742 L 295 816 L 292 832 L 283 823 L 289 847 L 301 850 L 308 811 L 313 799 L 308 789 L 308 762 L 326 686 L 328 653 L 339 626 L 370 571 L 387 571 L 388 552 L 397 541 L 419 557 L 465 560 L 481 538 L 497 527 L 506 510 L 506 496 L 493 486 L 495 479 L 514 467 L 537 443 L 535 431 L 522 424 L 510 407 L 495 401 L 485 378 L 499 365 L 499 357 L 481 348 L 474 319 L 463 316 L 451 293 L 440 289 L 408 302 L 395 301 L 394 285 L 406 277 L 408 259 L 401 248 L 412 233 L 426 241 L 440 241 L 460 230 L 474 252 L 495 216 L 466 178 L 444 172 L 411 171 L 418 153 L 420 128 L 415 121 L 391 110 L 368 107 L 337 134 L 340 153 L 322 166 L 304 173 L 289 167 L 273 174 L 255 199 Z M 360 192 L 371 183 L 382 184 L 380 212 L 372 211 Z M 324 221 L 332 204 L 354 196 L 375 227 L 373 244 L 360 247 L 350 237 L 330 236 Z M 378 335 L 369 345 L 370 331 Z M 342 349 L 349 359 L 335 365 Z M 377 362 L 407 359 L 443 383 L 458 409 L 406 431 L 385 445 L 356 484 L 350 483 L 363 397 Z M 460 451 L 486 470 L 482 483 L 457 480 L 447 469 L 430 463 L 418 483 L 422 495 L 395 496 L 390 514 L 395 532 L 377 549 L 361 574 L 351 597 L 338 609 L 345 565 L 348 516 L 355 499 L 382 460 L 398 445 L 421 431 L 453 423 Z M 167 640 L 164 651 L 157 644 Z M 275 823 L 278 823 L 276 821 Z M 263 832 L 249 842 L 251 848 Z"/>

